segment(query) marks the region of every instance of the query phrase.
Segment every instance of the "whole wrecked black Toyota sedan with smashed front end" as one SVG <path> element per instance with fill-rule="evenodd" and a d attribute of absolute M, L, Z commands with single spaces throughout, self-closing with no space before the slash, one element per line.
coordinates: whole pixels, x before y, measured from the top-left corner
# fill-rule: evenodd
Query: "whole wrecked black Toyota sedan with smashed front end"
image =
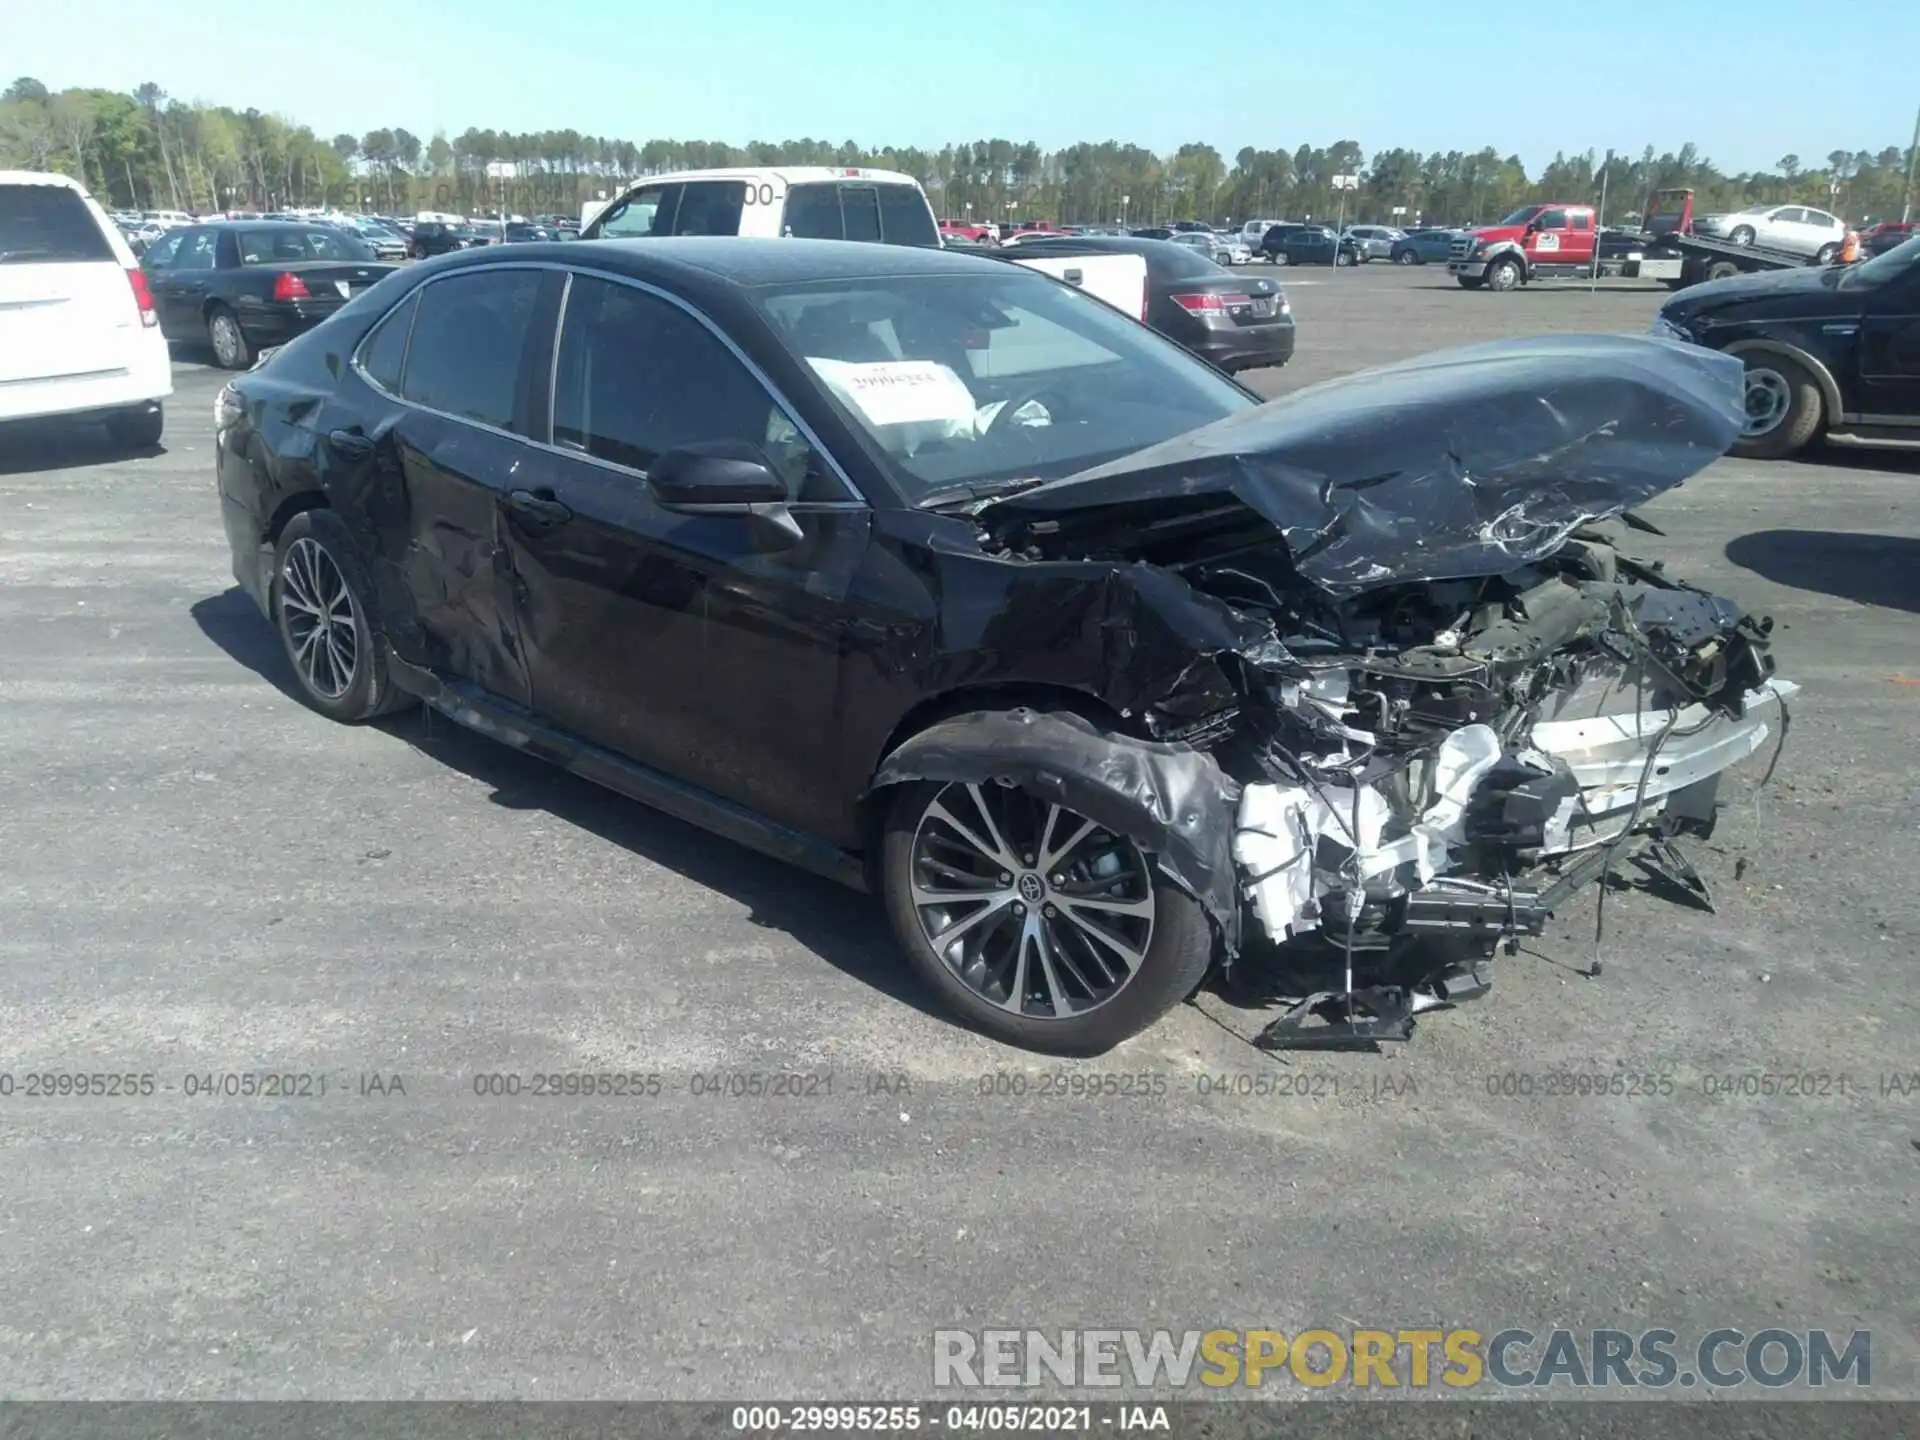
<path fill-rule="evenodd" d="M 1020 267 L 676 238 L 409 267 L 217 465 L 323 714 L 874 889 L 956 1016 L 1087 1054 L 1267 943 L 1342 962 L 1273 1043 L 1404 1035 L 1709 828 L 1793 687 L 1615 534 L 1743 419 L 1738 359 L 1615 336 L 1263 405 Z"/>

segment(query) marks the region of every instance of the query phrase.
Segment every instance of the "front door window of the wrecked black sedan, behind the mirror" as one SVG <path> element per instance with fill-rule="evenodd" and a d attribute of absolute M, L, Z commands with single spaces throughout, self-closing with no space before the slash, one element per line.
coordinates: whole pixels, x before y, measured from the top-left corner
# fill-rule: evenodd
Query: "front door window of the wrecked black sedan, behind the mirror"
<path fill-rule="evenodd" d="M 553 365 L 561 449 L 645 474 L 668 449 L 741 440 L 766 451 L 795 499 L 845 497 L 810 493 L 818 467 L 787 413 L 705 324 L 655 294 L 574 275 Z"/>

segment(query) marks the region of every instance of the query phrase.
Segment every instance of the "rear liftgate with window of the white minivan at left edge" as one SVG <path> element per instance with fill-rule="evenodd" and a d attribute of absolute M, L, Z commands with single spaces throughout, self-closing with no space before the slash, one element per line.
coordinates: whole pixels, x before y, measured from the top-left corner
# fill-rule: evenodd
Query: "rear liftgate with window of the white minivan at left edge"
<path fill-rule="evenodd" d="M 65 184 L 0 184 L 0 384 L 132 365 L 140 311 L 106 230 Z"/>

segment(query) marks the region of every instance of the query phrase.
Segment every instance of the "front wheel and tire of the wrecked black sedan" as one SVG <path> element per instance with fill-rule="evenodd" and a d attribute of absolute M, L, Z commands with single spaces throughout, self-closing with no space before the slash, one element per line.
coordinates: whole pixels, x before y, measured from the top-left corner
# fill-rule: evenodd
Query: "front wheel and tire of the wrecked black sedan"
<path fill-rule="evenodd" d="M 970 1027 L 1044 1054 L 1102 1054 L 1200 985 L 1200 902 L 1121 835 L 1018 787 L 912 781 L 881 839 L 908 964 Z"/>

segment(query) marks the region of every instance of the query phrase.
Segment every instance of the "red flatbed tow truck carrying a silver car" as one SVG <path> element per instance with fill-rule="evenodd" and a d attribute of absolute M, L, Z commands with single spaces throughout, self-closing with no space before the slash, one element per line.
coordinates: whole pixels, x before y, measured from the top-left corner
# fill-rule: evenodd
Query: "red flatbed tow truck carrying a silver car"
<path fill-rule="evenodd" d="M 1448 252 L 1463 290 L 1513 290 L 1538 280 L 1620 276 L 1680 290 L 1753 271 L 1811 265 L 1805 255 L 1693 234 L 1693 192 L 1661 190 L 1638 232 L 1597 227 L 1592 205 L 1521 205 L 1498 225 L 1467 230 Z M 1611 253 L 1609 253 L 1611 252 Z"/>

